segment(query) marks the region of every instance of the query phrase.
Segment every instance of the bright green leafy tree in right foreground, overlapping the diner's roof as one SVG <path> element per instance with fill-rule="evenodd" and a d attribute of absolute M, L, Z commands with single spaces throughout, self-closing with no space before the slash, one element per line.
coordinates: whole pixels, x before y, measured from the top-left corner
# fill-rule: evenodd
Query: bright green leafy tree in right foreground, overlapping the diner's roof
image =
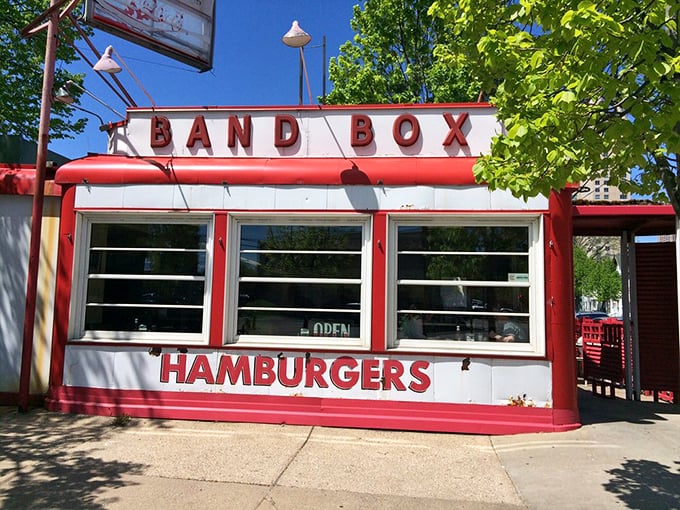
<path fill-rule="evenodd" d="M 436 54 L 476 71 L 506 129 L 476 178 L 529 197 L 606 176 L 680 213 L 679 9 L 654 0 L 435 2 L 430 13 L 455 34 Z"/>

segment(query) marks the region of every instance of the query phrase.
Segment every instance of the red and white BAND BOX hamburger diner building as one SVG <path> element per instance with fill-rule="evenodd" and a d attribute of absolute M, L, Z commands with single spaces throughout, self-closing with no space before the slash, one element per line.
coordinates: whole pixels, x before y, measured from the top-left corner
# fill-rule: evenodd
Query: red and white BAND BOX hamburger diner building
<path fill-rule="evenodd" d="M 51 410 L 579 426 L 571 191 L 475 182 L 488 104 L 131 108 L 61 166 Z"/>

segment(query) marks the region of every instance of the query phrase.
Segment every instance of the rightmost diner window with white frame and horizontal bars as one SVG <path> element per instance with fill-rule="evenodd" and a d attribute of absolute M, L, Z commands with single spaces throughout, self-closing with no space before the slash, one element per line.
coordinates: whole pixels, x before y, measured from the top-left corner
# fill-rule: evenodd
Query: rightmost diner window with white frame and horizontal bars
<path fill-rule="evenodd" d="M 392 348 L 544 352 L 535 216 L 392 217 Z"/>

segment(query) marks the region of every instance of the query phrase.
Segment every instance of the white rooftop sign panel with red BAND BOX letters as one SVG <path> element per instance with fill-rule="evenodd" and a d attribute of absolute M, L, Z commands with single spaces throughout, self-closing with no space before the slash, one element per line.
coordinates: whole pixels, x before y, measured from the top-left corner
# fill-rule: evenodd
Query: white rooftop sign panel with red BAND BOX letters
<path fill-rule="evenodd" d="M 489 111 L 487 111 L 489 110 Z M 500 126 L 488 108 L 128 110 L 114 152 L 237 157 L 471 157 Z M 145 149 L 146 148 L 146 149 Z M 137 154 L 139 155 L 139 154 Z"/>

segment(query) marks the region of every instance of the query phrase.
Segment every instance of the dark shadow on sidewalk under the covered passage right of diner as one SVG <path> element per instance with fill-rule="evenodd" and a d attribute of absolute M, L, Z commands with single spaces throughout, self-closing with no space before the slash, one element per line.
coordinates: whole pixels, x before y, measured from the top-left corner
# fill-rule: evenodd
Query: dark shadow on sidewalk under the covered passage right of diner
<path fill-rule="evenodd" d="M 644 425 L 665 421 L 664 414 L 680 414 L 680 405 L 606 398 L 584 388 L 578 389 L 578 407 L 583 425 L 618 421 Z"/>

